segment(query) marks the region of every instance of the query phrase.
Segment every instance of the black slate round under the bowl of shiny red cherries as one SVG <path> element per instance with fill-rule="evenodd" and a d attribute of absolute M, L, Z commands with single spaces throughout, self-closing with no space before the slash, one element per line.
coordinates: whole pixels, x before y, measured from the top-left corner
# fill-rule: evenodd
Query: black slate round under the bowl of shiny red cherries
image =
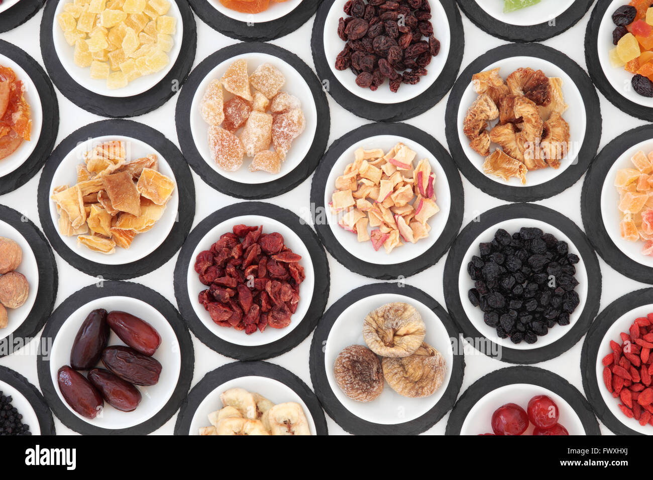
<path fill-rule="evenodd" d="M 586 435 L 601 435 L 599 423 L 596 421 L 592 407 L 588 404 L 576 387 L 571 385 L 563 377 L 534 366 L 511 366 L 495 370 L 475 381 L 460 396 L 456 406 L 454 406 L 449 415 L 447 430 L 445 435 L 460 435 L 462 424 L 468 413 L 483 396 L 506 385 L 515 383 L 528 383 L 537 385 L 543 389 L 549 389 L 552 392 L 562 396 L 564 400 L 573 408 L 573 411 L 581 419 L 582 427 Z M 488 431 L 490 430 L 490 419 L 487 423 Z"/>

